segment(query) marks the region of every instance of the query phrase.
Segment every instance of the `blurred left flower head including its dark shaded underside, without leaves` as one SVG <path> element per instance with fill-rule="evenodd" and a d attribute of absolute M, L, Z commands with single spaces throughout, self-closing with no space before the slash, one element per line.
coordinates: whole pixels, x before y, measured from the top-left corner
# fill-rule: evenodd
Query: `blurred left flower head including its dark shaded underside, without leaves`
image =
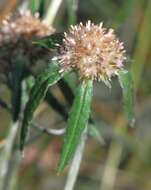
<path fill-rule="evenodd" d="M 45 55 L 41 47 L 32 43 L 35 38 L 49 36 L 54 29 L 34 16 L 30 11 L 7 17 L 0 26 L 0 73 L 12 69 L 12 60 L 18 55 L 26 57 L 30 63 Z"/>

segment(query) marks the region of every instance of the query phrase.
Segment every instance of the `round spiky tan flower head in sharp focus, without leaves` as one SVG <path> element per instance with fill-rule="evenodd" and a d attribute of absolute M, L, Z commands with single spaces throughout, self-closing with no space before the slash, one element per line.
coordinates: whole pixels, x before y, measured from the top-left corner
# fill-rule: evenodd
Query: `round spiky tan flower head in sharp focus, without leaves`
<path fill-rule="evenodd" d="M 61 71 L 74 69 L 83 79 L 102 80 L 109 84 L 112 76 L 123 67 L 125 50 L 114 34 L 88 21 L 71 26 L 64 34 L 58 56 Z"/>

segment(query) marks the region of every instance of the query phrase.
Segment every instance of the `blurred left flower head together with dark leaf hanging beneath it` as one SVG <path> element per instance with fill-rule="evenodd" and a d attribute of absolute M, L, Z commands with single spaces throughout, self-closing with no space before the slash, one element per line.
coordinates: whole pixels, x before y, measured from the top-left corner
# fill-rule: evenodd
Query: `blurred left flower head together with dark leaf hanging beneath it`
<path fill-rule="evenodd" d="M 32 42 L 53 33 L 52 27 L 30 11 L 7 16 L 0 26 L 0 75 L 12 92 L 11 115 L 14 122 L 20 116 L 22 82 L 31 73 L 33 75 L 37 61 L 48 60 L 50 56 L 50 51 Z"/>

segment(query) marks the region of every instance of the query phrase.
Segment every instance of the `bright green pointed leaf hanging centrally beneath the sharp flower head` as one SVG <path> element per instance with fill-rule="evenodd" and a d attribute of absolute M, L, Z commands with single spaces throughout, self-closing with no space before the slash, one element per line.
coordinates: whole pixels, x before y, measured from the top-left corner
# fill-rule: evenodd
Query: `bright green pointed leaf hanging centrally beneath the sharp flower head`
<path fill-rule="evenodd" d="M 92 89 L 92 81 L 87 81 L 83 82 L 77 90 L 77 94 L 69 114 L 64 143 L 62 146 L 58 165 L 59 173 L 72 158 L 79 143 L 81 133 L 87 125 L 90 115 Z"/>

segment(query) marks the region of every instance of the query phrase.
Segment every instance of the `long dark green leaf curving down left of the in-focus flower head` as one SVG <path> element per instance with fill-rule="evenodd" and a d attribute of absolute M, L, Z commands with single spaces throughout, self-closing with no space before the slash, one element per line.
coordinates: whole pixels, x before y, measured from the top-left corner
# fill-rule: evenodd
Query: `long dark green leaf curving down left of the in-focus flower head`
<path fill-rule="evenodd" d="M 50 86 L 55 84 L 62 74 L 59 73 L 58 68 L 48 68 L 45 70 L 35 81 L 33 88 L 31 89 L 29 101 L 27 102 L 24 118 L 21 128 L 20 136 L 20 149 L 23 150 L 26 136 L 28 134 L 28 126 L 33 118 L 33 113 L 44 99 L 46 92 Z"/>

